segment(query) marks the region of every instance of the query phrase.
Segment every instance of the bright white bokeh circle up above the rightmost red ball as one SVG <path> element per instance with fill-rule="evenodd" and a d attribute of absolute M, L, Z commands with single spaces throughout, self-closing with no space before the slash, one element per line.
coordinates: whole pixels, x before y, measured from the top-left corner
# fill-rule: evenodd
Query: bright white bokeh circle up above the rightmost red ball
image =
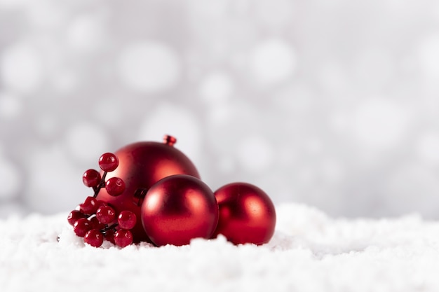
<path fill-rule="evenodd" d="M 250 52 L 250 75 L 258 85 L 271 86 L 285 81 L 296 66 L 295 50 L 282 39 L 262 41 Z"/>

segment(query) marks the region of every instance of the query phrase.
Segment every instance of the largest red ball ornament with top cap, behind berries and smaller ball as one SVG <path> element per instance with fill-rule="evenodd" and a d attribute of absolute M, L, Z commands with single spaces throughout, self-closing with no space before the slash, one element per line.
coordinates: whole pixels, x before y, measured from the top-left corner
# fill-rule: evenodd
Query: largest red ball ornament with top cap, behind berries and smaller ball
<path fill-rule="evenodd" d="M 106 177 L 121 178 L 125 183 L 125 190 L 114 197 L 105 188 L 101 188 L 97 200 L 110 204 L 117 214 L 128 210 L 140 218 L 140 199 L 157 181 L 173 174 L 187 174 L 199 179 L 196 167 L 184 153 L 173 146 L 175 142 L 174 137 L 166 135 L 163 143 L 140 141 L 120 148 L 115 153 L 119 165 L 113 172 L 108 172 Z M 140 220 L 137 220 L 130 231 L 134 242 L 150 241 Z"/>

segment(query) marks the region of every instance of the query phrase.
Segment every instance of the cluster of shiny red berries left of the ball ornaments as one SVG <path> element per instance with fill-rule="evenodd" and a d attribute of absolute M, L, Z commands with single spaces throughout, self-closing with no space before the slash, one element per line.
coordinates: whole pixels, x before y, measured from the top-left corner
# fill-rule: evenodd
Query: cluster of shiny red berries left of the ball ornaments
<path fill-rule="evenodd" d="M 73 226 L 73 230 L 79 237 L 83 237 L 86 244 L 99 247 L 104 239 L 125 247 L 133 243 L 133 234 L 137 218 L 132 211 L 124 210 L 116 214 L 115 209 L 105 202 L 97 200 L 97 194 L 101 188 L 107 193 L 118 196 L 125 190 L 125 182 L 119 177 L 112 177 L 105 181 L 107 172 L 113 172 L 119 166 L 119 160 L 113 153 L 104 153 L 99 158 L 100 172 L 88 169 L 82 176 L 85 186 L 93 188 L 94 195 L 87 197 L 79 204 L 79 209 L 70 212 L 67 221 Z"/>

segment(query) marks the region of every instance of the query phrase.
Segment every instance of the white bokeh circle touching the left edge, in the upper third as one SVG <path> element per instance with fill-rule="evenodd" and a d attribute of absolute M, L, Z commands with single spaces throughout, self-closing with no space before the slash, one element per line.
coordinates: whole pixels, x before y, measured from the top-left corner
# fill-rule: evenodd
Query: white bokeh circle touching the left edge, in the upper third
<path fill-rule="evenodd" d="M 0 81 L 18 92 L 33 92 L 43 81 L 45 72 L 41 54 L 30 45 L 16 43 L 0 55 Z"/>

